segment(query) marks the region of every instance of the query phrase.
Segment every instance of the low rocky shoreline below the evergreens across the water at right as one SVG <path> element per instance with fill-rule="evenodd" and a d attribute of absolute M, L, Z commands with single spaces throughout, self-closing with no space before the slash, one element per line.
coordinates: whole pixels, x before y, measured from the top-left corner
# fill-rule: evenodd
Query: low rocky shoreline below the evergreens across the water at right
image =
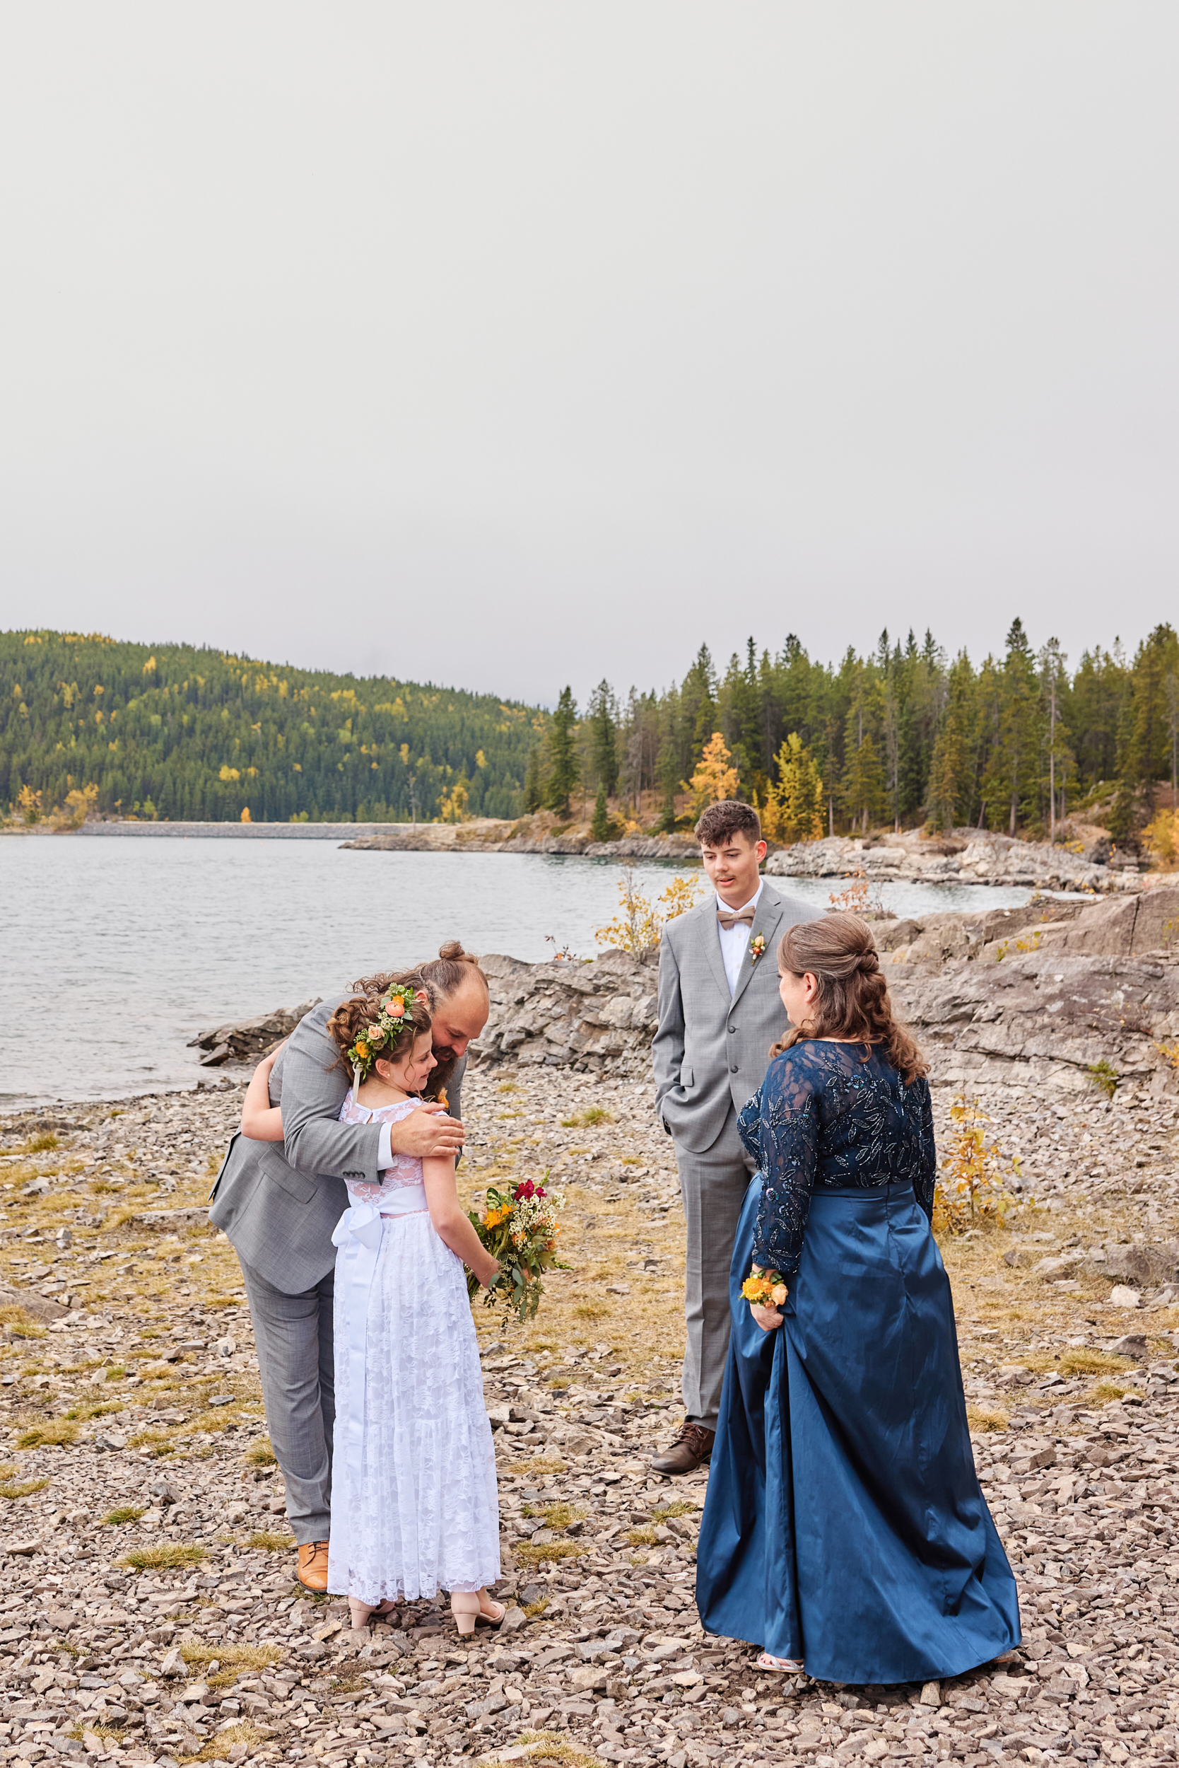
<path fill-rule="evenodd" d="M 864 842 L 833 836 L 780 847 L 765 863 L 771 877 L 827 879 L 863 872 L 870 884 L 1025 884 L 1029 889 L 1138 891 L 1144 877 L 1130 866 L 1094 865 L 1092 847 L 1076 852 L 1048 842 L 1016 842 L 1008 834 L 955 829 L 926 838 L 919 831 L 871 836 Z"/>

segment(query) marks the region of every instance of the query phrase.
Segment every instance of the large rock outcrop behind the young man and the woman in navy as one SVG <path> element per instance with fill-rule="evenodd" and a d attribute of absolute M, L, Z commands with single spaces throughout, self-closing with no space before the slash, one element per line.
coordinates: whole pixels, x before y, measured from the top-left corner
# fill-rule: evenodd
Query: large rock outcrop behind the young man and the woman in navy
<path fill-rule="evenodd" d="M 1105 1063 L 1107 1084 L 1179 1084 L 1161 1048 L 1179 1045 L 1179 888 L 879 921 L 875 932 L 935 1082 L 1076 1091 Z M 590 964 L 491 956 L 484 969 L 491 1017 L 472 1045 L 477 1061 L 645 1073 L 654 953 L 606 951 Z"/>

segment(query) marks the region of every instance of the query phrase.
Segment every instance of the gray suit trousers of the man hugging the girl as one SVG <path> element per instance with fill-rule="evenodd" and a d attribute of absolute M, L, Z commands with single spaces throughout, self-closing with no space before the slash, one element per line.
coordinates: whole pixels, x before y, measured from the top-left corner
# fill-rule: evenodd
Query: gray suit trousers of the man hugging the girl
<path fill-rule="evenodd" d="M 288 1296 L 239 1254 L 255 1322 L 262 1397 L 274 1457 L 286 1480 L 286 1515 L 295 1543 L 325 1542 L 332 1501 L 336 1363 L 332 1308 L 336 1271 Z"/>

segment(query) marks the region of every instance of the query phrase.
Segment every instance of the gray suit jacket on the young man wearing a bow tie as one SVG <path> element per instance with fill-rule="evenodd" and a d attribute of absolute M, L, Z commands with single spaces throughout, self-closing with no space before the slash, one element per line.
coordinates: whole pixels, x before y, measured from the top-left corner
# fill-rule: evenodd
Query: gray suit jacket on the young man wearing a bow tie
<path fill-rule="evenodd" d="M 659 1025 L 650 1043 L 656 1112 L 679 1146 L 704 1155 L 725 1128 L 728 1107 L 753 1098 L 769 1068 L 769 1047 L 787 1031 L 778 995 L 778 941 L 795 921 L 822 911 L 762 888 L 730 997 L 716 893 L 663 930 L 659 942 Z M 765 934 L 755 962 L 753 941 Z"/>

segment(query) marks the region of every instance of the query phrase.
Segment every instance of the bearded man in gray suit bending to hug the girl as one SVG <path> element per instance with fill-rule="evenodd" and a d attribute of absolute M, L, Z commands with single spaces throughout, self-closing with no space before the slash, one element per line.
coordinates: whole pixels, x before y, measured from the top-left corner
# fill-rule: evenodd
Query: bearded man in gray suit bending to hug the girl
<path fill-rule="evenodd" d="M 394 1155 L 453 1155 L 463 1146 L 467 1045 L 488 1018 L 488 985 L 458 944 L 398 978 L 424 988 L 433 1013 L 433 1101 L 398 1124 L 339 1123 L 348 1077 L 327 1022 L 346 995 L 306 1015 L 270 1071 L 283 1142 L 235 1135 L 214 1186 L 210 1222 L 233 1241 L 258 1345 L 270 1444 L 286 1480 L 297 1575 L 327 1589 L 336 1376 L 332 1229 L 348 1208 L 345 1179 L 380 1183 Z M 445 1089 L 445 1091 L 442 1091 Z"/>

